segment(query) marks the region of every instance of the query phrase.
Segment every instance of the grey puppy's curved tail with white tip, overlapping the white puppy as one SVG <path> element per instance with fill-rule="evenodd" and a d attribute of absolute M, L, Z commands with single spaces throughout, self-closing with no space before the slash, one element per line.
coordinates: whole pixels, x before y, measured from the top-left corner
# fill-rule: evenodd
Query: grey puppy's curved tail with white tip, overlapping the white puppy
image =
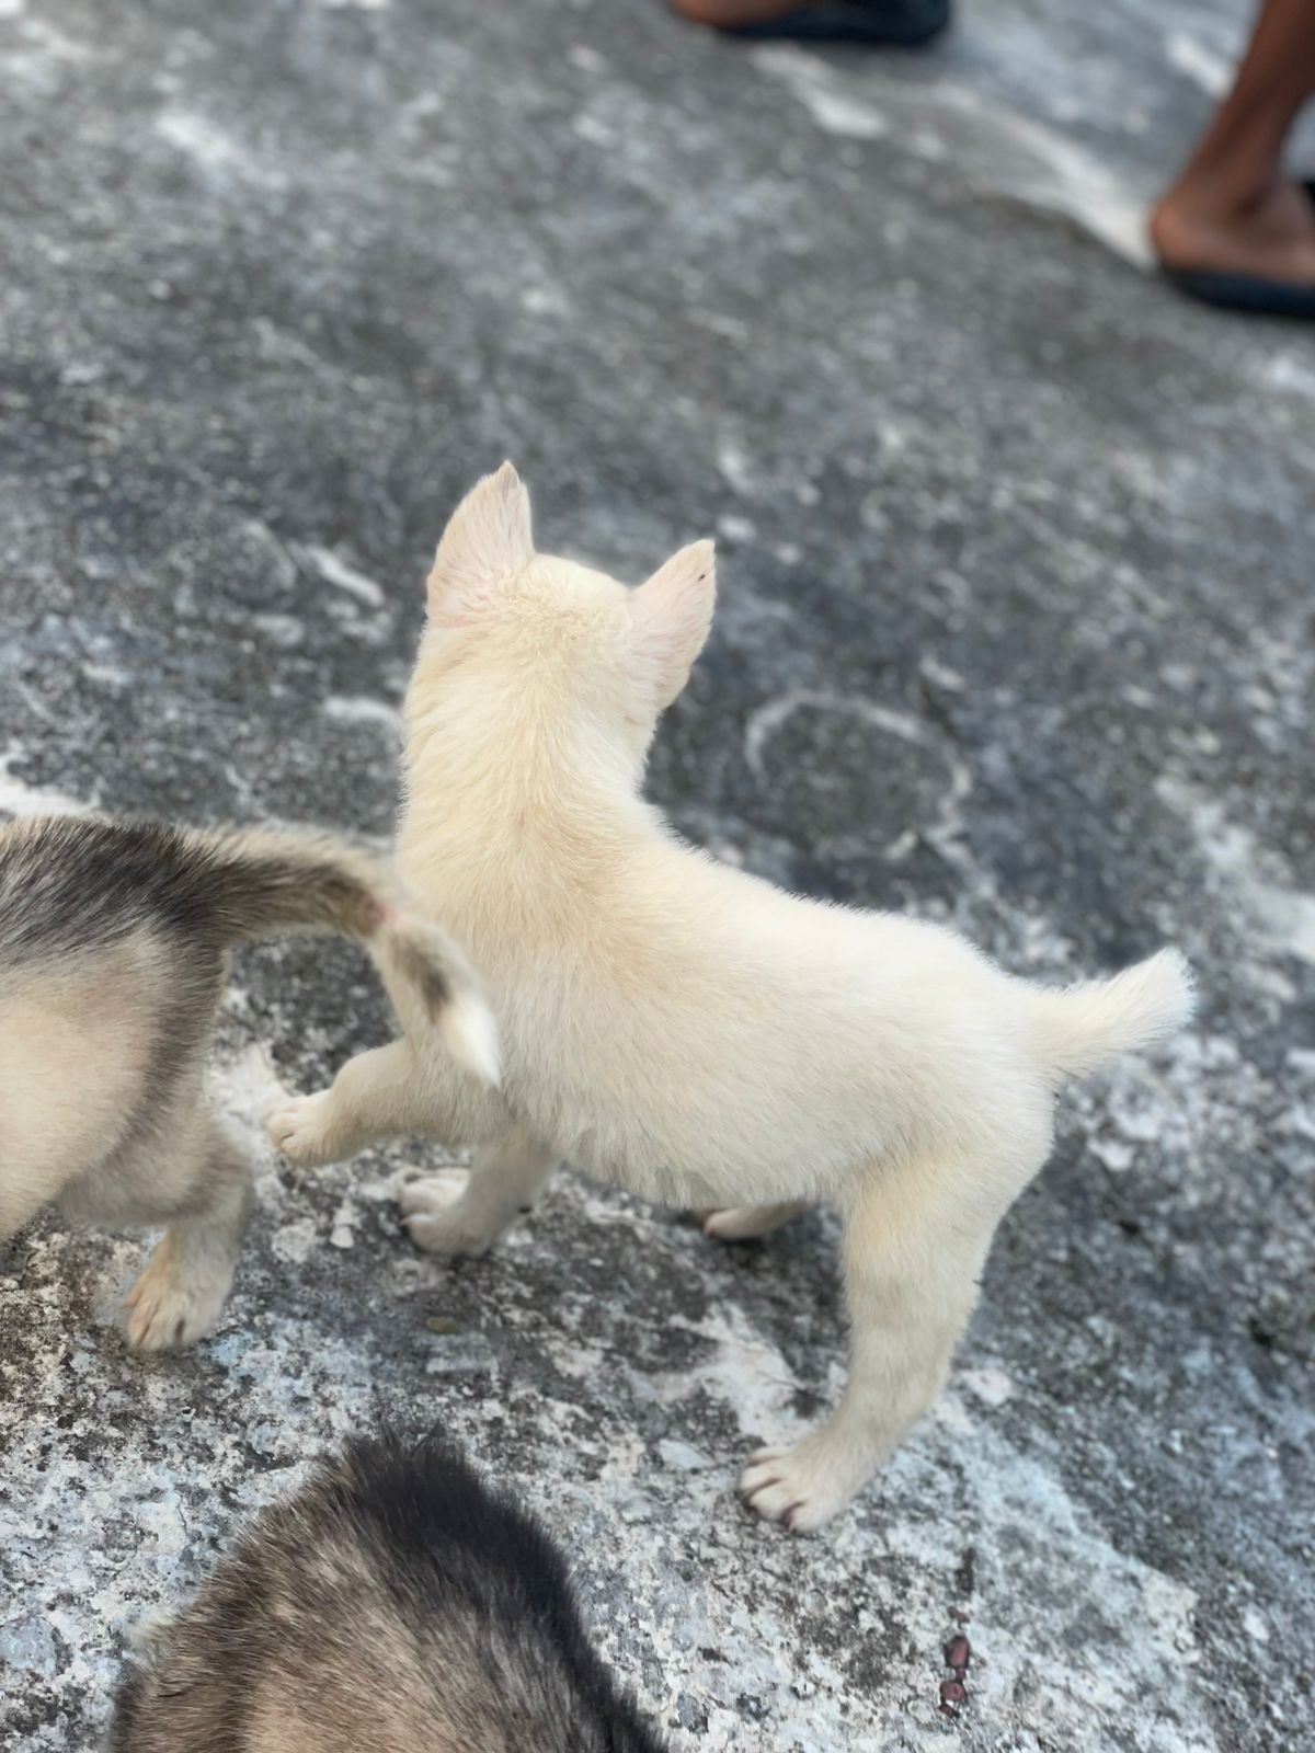
<path fill-rule="evenodd" d="M 500 1082 L 498 1027 L 470 962 L 410 912 L 380 861 L 326 833 L 221 829 L 195 840 L 210 854 L 212 917 L 230 943 L 324 933 L 365 945 L 402 1022 L 437 1027 L 458 1064 Z"/>

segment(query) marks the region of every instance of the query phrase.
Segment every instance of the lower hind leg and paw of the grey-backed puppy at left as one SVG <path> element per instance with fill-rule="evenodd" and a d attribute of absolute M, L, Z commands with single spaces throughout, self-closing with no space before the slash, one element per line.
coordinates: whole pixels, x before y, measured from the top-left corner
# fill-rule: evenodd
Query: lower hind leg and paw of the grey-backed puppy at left
<path fill-rule="evenodd" d="M 214 1327 L 233 1283 L 252 1203 L 251 1166 L 214 1115 L 198 1118 L 193 1199 L 186 1215 L 172 1218 L 124 1304 L 137 1352 L 195 1345 Z"/>

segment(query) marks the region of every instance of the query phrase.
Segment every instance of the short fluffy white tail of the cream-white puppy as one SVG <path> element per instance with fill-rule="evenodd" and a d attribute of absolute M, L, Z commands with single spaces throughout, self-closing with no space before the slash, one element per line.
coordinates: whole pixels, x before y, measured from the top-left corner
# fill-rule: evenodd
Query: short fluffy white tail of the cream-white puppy
<path fill-rule="evenodd" d="M 1057 1080 L 1134 1054 L 1173 1034 L 1192 1015 L 1192 971 L 1178 950 L 1161 950 L 1113 980 L 1089 980 L 1064 992 L 1031 992 L 1036 1055 Z"/>

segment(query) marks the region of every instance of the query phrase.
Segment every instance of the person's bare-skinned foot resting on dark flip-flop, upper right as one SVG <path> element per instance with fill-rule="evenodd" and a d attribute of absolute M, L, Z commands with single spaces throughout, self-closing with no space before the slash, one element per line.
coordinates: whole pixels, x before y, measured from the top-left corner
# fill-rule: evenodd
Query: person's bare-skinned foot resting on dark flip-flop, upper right
<path fill-rule="evenodd" d="M 1169 272 L 1315 286 L 1315 198 L 1289 179 L 1240 196 L 1185 177 L 1152 214 L 1150 242 Z"/>

